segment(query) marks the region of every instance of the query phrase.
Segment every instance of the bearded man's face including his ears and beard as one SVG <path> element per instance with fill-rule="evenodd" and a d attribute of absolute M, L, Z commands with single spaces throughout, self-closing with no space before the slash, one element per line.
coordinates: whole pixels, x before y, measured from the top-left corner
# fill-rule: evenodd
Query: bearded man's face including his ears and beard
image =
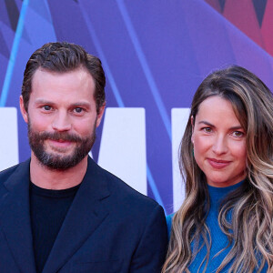
<path fill-rule="evenodd" d="M 35 72 L 27 113 L 20 97 L 33 157 L 46 167 L 64 170 L 87 156 L 104 112 L 103 106 L 97 115 L 94 93 L 94 80 L 84 68 Z"/>

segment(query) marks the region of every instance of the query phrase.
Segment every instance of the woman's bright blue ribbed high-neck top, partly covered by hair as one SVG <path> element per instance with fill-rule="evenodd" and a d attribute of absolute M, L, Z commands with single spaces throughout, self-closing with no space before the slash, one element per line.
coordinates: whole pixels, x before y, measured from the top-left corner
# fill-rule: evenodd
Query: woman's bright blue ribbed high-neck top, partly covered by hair
<path fill-rule="evenodd" d="M 230 187 L 211 187 L 208 186 L 208 192 L 210 196 L 210 209 L 207 215 L 206 224 L 210 230 L 211 236 L 211 249 L 210 249 L 210 256 L 208 259 L 207 270 L 206 272 L 216 272 L 216 269 L 221 264 L 222 260 L 227 256 L 231 246 L 224 251 L 222 251 L 217 257 L 214 257 L 220 250 L 227 247 L 228 239 L 227 236 L 222 232 L 221 228 L 218 225 L 217 216 L 218 216 L 218 209 L 221 204 L 221 201 L 224 197 L 227 196 L 229 192 L 238 188 L 242 185 L 243 181 L 239 182 L 236 185 Z M 170 229 L 172 225 L 172 217 L 174 214 L 167 216 L 167 228 L 168 228 L 168 236 L 170 236 Z M 193 245 L 192 245 L 193 248 Z M 197 272 L 200 264 L 205 258 L 207 254 L 207 248 L 204 246 L 201 250 L 197 253 L 197 257 L 195 258 L 194 262 L 189 266 L 190 272 Z M 199 272 L 203 272 L 203 269 L 206 265 L 206 260 L 204 261 L 203 265 L 199 269 Z M 227 272 L 228 268 L 230 268 L 230 263 L 227 264 L 227 267 L 224 268 L 221 272 Z M 267 272 L 268 266 L 264 267 L 261 271 L 262 273 Z M 256 271 L 254 271 L 256 272 Z"/>

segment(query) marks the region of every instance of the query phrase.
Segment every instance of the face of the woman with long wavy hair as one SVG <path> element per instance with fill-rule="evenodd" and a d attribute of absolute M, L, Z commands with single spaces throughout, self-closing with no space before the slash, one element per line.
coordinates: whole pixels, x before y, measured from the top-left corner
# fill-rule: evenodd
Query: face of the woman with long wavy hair
<path fill-rule="evenodd" d="M 194 122 L 194 124 L 193 124 Z M 220 96 L 204 100 L 195 121 L 192 143 L 207 184 L 227 187 L 246 177 L 246 134 L 229 101 Z"/>

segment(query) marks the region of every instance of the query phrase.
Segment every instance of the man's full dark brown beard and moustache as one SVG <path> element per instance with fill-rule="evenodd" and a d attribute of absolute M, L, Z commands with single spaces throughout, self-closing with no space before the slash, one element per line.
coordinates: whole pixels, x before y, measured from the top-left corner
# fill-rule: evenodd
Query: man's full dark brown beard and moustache
<path fill-rule="evenodd" d="M 28 119 L 29 120 L 29 119 Z M 45 149 L 45 140 L 62 140 L 70 141 L 76 143 L 76 147 L 71 152 L 71 155 L 65 156 L 61 155 L 61 148 L 58 153 L 47 152 Z M 30 122 L 28 123 L 28 141 L 29 146 L 35 154 L 35 157 L 40 161 L 45 167 L 55 169 L 55 170 L 66 170 L 70 167 L 75 167 L 82 159 L 84 159 L 91 148 L 93 147 L 96 140 L 96 122 L 93 128 L 91 136 L 80 137 L 75 134 L 69 134 L 67 132 L 35 132 L 32 129 Z"/>

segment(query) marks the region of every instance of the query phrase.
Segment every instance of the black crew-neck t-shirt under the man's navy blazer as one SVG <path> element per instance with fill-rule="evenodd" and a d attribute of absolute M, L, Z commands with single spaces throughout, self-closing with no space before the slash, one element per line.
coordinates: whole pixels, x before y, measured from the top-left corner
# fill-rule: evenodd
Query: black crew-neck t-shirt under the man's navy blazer
<path fill-rule="evenodd" d="M 79 186 L 54 190 L 37 187 L 30 182 L 30 220 L 37 272 L 43 271 Z"/>

